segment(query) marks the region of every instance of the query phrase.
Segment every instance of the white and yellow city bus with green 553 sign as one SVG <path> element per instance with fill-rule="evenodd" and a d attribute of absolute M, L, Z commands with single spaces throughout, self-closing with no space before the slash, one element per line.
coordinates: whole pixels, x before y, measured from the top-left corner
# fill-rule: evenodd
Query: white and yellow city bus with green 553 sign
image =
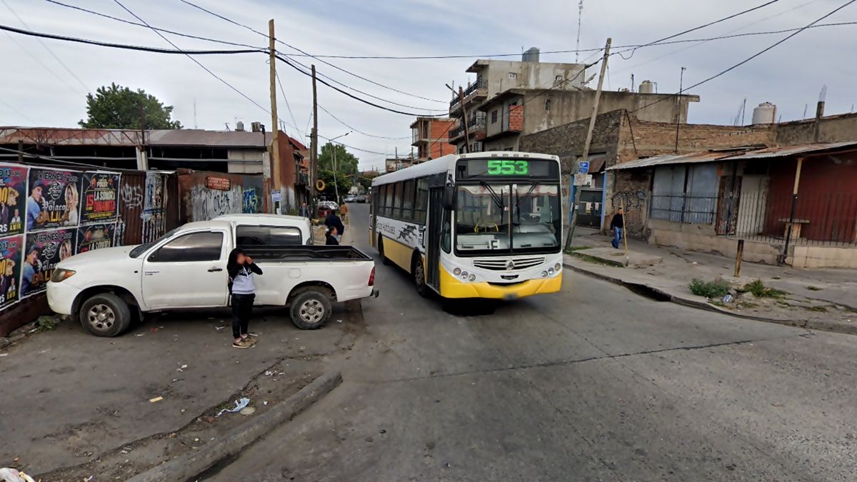
<path fill-rule="evenodd" d="M 562 285 L 560 159 L 452 154 L 372 181 L 370 243 L 443 298 L 522 298 Z"/>

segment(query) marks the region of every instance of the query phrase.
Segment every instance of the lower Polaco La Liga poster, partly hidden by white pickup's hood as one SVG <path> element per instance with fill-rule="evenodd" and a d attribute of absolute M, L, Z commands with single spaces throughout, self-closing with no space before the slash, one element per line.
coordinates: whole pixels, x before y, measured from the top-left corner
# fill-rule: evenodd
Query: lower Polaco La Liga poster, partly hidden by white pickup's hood
<path fill-rule="evenodd" d="M 21 265 L 21 296 L 45 291 L 54 268 L 75 254 L 74 229 L 27 232 L 27 248 Z"/>

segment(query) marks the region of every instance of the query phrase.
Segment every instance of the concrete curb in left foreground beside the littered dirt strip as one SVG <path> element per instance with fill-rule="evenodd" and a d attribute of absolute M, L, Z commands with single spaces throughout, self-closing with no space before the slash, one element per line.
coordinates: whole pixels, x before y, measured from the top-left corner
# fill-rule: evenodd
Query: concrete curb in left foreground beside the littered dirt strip
<path fill-rule="evenodd" d="M 218 461 L 237 455 L 244 447 L 291 420 L 338 387 L 339 383 L 342 383 L 342 375 L 339 371 L 325 373 L 298 390 L 295 395 L 280 402 L 270 412 L 236 427 L 216 443 L 207 445 L 193 454 L 181 455 L 165 461 L 157 467 L 135 475 L 128 479 L 128 482 L 185 482 L 192 479 Z"/>

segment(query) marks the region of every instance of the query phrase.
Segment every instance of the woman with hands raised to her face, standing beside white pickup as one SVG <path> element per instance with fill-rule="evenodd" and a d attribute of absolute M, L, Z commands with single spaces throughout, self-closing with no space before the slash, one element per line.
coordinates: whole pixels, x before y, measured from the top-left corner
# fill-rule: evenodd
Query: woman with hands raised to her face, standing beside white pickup
<path fill-rule="evenodd" d="M 250 315 L 253 314 L 253 302 L 256 298 L 254 274 L 262 274 L 253 258 L 244 254 L 240 248 L 229 253 L 226 262 L 226 272 L 229 274 L 229 293 L 232 304 L 232 346 L 249 348 L 256 342 L 256 335 L 250 333 Z"/>

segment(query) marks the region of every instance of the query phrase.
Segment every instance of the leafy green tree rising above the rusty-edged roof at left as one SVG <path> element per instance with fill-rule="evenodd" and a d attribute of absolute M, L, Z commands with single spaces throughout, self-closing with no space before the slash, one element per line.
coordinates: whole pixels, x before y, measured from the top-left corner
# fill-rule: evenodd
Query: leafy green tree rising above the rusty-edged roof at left
<path fill-rule="evenodd" d="M 172 105 L 164 105 L 143 89 L 111 83 L 110 87 L 99 87 L 95 95 L 87 93 L 87 120 L 77 124 L 86 129 L 141 129 L 142 117 L 146 129 L 182 129 L 182 123 L 170 119 Z"/>

